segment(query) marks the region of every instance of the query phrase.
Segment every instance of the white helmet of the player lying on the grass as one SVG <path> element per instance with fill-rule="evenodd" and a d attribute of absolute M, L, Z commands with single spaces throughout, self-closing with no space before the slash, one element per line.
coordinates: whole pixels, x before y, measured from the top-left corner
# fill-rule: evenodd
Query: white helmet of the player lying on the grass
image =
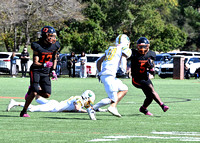
<path fill-rule="evenodd" d="M 93 91 L 91 90 L 86 90 L 82 95 L 81 95 L 83 102 L 84 102 L 84 106 L 86 108 L 90 107 L 91 104 L 94 104 L 95 101 L 95 94 Z"/>

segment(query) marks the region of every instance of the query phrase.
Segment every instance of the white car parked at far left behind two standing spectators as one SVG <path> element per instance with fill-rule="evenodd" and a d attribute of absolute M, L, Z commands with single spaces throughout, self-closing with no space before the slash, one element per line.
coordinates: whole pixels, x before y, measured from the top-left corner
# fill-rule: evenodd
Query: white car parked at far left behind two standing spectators
<path fill-rule="evenodd" d="M 16 68 L 17 68 L 17 74 L 21 72 L 21 53 L 15 53 L 16 56 L 19 57 L 19 59 L 16 60 Z M 3 73 L 10 73 L 10 58 L 12 56 L 12 52 L 0 52 L 0 72 Z M 30 66 L 33 63 L 32 60 L 28 61 L 28 68 L 27 71 L 30 71 Z"/>

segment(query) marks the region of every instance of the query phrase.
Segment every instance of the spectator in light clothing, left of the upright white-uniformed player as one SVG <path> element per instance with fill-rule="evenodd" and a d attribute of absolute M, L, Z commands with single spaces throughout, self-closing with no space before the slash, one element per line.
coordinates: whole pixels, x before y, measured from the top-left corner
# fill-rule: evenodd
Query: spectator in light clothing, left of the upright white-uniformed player
<path fill-rule="evenodd" d="M 80 78 L 86 78 L 87 77 L 87 69 L 86 69 L 87 58 L 85 56 L 85 52 L 81 53 L 79 62 L 80 62 Z"/>

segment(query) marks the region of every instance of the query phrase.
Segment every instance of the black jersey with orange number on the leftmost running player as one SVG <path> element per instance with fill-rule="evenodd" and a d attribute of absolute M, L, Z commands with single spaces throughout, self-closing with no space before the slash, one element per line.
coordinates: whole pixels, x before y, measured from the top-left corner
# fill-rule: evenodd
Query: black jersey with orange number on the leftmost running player
<path fill-rule="evenodd" d="M 55 44 L 44 44 L 42 41 L 37 41 L 31 43 L 31 48 L 33 51 L 38 52 L 39 62 L 44 64 L 52 60 L 52 58 L 57 53 L 58 49 L 60 48 L 60 44 L 57 41 Z M 34 56 L 34 55 L 33 55 Z M 44 73 L 49 73 L 49 68 L 38 67 L 38 66 L 31 66 L 31 69 L 41 71 Z"/>

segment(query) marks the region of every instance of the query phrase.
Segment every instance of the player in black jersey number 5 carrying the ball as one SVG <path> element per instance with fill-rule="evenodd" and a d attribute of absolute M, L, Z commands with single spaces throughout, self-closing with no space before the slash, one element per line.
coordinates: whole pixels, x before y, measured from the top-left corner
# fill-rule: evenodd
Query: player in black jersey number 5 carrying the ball
<path fill-rule="evenodd" d="M 169 107 L 163 104 L 158 93 L 154 90 L 153 84 L 149 78 L 149 73 L 154 74 L 153 61 L 156 58 L 155 52 L 150 51 L 149 46 L 149 40 L 145 37 L 141 37 L 137 41 L 137 50 L 132 49 L 131 75 L 132 84 L 137 88 L 141 88 L 146 95 L 146 99 L 139 111 L 145 115 L 152 116 L 153 114 L 147 110 L 147 107 L 153 100 L 161 106 L 164 112 L 166 112 Z"/>

